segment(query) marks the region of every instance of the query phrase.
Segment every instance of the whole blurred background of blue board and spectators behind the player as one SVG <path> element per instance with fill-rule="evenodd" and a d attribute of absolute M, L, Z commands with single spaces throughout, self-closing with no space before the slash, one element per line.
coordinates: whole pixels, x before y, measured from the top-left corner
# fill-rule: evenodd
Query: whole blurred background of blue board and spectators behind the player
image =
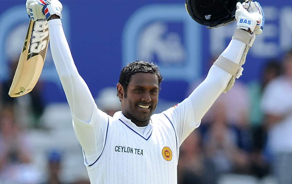
<path fill-rule="evenodd" d="M 62 3 L 79 73 L 109 114 L 119 110 L 114 88 L 126 63 L 160 66 L 161 112 L 204 79 L 235 29 L 197 24 L 183 0 Z M 292 183 L 292 1 L 260 3 L 264 32 L 248 53 L 243 76 L 181 146 L 179 184 Z M 34 90 L 8 96 L 29 18 L 25 0 L 0 4 L 0 184 L 89 183 L 50 50 Z"/>

